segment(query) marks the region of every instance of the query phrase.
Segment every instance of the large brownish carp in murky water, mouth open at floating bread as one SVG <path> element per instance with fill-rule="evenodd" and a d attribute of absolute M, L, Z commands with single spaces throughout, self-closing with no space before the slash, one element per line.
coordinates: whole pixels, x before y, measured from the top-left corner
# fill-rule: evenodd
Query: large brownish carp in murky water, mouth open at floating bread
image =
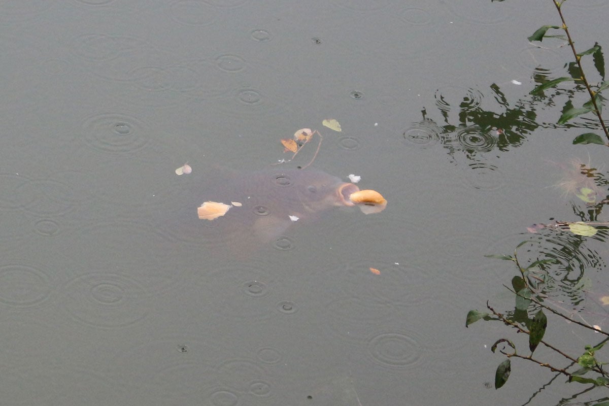
<path fill-rule="evenodd" d="M 180 209 L 185 211 L 181 222 L 190 239 L 243 254 L 272 242 L 295 223 L 337 206 L 359 205 L 350 200 L 355 192 L 355 184 L 320 170 L 263 170 L 206 189 Z M 202 215 L 203 203 L 221 213 Z"/>

